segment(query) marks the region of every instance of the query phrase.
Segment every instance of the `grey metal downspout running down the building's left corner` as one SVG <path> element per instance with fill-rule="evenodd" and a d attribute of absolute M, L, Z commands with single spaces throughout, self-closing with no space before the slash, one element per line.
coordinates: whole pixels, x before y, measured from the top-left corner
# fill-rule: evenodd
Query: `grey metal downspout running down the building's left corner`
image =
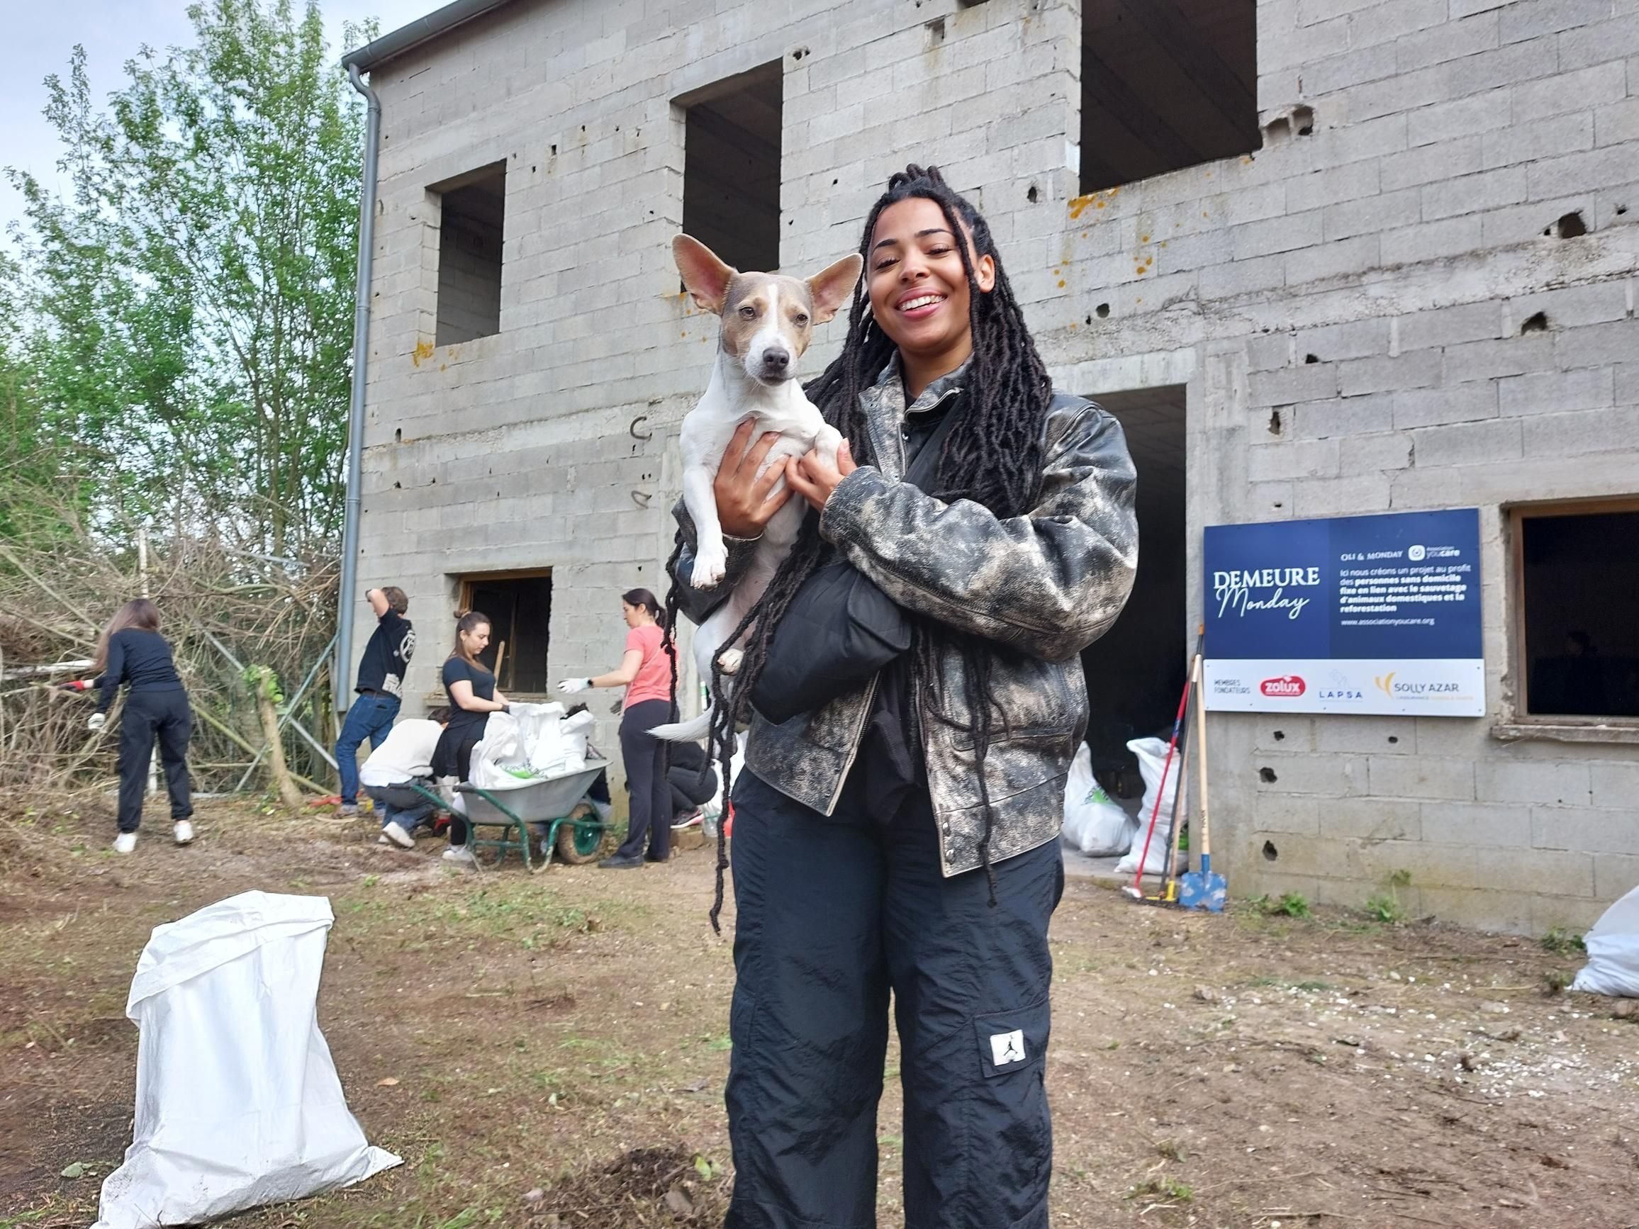
<path fill-rule="evenodd" d="M 341 713 L 352 701 L 352 614 L 359 583 L 359 488 L 364 467 L 364 383 L 370 349 L 370 269 L 375 257 L 375 159 L 382 136 L 382 100 L 347 66 L 352 88 L 364 95 L 364 182 L 359 190 L 359 265 L 352 306 L 352 395 L 347 401 L 347 500 L 341 523 L 341 593 L 336 598 L 336 669 L 331 695 Z"/>

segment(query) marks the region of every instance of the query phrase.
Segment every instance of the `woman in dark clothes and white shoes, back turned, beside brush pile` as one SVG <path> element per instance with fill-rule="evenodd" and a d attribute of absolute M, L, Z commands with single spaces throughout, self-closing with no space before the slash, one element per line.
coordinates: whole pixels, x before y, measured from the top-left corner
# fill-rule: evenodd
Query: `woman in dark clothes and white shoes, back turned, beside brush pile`
<path fill-rule="evenodd" d="M 159 610 L 148 598 L 134 598 L 120 606 L 97 641 L 95 670 L 90 683 L 69 683 L 75 690 L 98 692 L 97 711 L 87 719 L 90 729 L 108 721 L 120 685 L 126 685 L 125 714 L 120 718 L 120 836 L 118 854 L 136 849 L 136 829 L 143 823 L 143 793 L 148 787 L 148 764 L 159 741 L 159 762 L 166 769 L 170 793 L 170 821 L 179 846 L 193 839 L 193 798 L 188 787 L 188 737 L 193 713 L 188 693 L 170 659 L 170 646 L 159 634 Z"/>

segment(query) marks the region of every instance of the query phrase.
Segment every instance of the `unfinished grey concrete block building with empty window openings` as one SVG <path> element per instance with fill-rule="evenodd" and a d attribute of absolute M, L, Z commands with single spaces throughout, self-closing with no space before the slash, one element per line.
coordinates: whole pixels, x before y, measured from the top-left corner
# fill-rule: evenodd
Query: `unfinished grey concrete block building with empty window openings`
<path fill-rule="evenodd" d="M 1205 526 L 1480 510 L 1485 716 L 1213 714 L 1234 893 L 1541 932 L 1639 883 L 1634 0 L 457 0 L 349 61 L 361 580 L 411 596 L 413 696 L 457 606 L 528 696 L 664 595 L 716 326 L 672 234 L 816 270 L 934 162 L 1137 462 L 1090 737 L 1170 721 Z"/>

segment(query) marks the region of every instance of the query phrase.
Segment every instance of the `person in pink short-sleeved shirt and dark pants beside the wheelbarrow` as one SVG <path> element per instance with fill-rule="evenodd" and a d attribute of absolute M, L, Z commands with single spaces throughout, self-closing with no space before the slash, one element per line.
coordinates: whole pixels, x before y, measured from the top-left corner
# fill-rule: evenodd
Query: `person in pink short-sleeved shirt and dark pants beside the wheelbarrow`
<path fill-rule="evenodd" d="M 644 862 L 665 862 L 672 855 L 672 788 L 665 780 L 665 747 L 649 731 L 672 719 L 672 657 L 667 652 L 665 619 L 661 603 L 646 588 L 621 595 L 626 619 L 626 654 L 608 673 L 565 678 L 557 685 L 565 695 L 588 687 L 624 687 L 626 703 L 620 718 L 620 751 L 631 790 L 631 819 L 626 841 L 611 857 L 598 862 L 605 870 L 634 870 Z M 644 852 L 647 846 L 647 852 Z"/>

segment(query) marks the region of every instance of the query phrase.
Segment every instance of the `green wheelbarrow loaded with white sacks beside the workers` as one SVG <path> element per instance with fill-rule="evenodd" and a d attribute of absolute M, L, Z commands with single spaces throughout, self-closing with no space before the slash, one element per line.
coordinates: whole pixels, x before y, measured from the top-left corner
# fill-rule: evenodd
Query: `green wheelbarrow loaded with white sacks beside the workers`
<path fill-rule="evenodd" d="M 587 767 L 559 777 L 520 780 L 516 785 L 480 788 L 470 782 L 456 787 L 465 803 L 467 849 L 477 855 L 480 849 L 493 849 L 495 864 L 506 860 L 506 850 L 516 849 L 524 870 L 533 870 L 529 837 L 539 836 L 546 864 L 552 855 L 572 865 L 592 862 L 603 847 L 606 824 L 597 811 L 582 801 L 592 782 L 608 767 L 606 760 L 587 760 Z M 444 800 L 421 787 L 418 793 L 434 798 L 443 808 Z M 502 829 L 497 837 L 479 836 L 482 829 Z"/>

